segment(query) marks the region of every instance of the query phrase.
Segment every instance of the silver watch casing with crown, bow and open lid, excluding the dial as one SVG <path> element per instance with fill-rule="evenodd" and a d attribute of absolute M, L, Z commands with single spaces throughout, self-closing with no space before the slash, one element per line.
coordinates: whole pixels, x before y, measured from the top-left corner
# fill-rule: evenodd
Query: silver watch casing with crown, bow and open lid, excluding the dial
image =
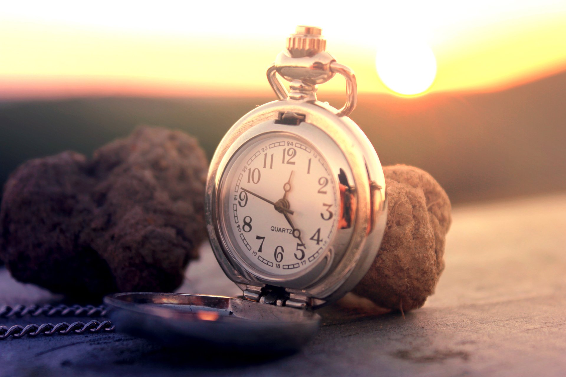
<path fill-rule="evenodd" d="M 243 297 L 111 294 L 104 302 L 118 331 L 168 346 L 231 350 L 220 354 L 238 349 L 258 354 L 289 352 L 311 339 L 320 324 L 320 315 L 295 308 L 316 309 L 336 301 L 366 274 L 387 222 L 385 179 L 370 141 L 348 118 L 357 98 L 354 72 L 324 49 L 320 29 L 297 27 L 297 33 L 288 38 L 288 49 L 267 70 L 268 81 L 280 100 L 239 119 L 212 158 L 205 195 L 207 230 L 218 263 L 242 289 Z M 316 100 L 316 85 L 336 73 L 346 80 L 346 103 L 340 110 Z M 277 75 L 290 81 L 290 92 Z M 340 205 L 345 221 L 340 222 L 325 254 L 317 257 L 313 266 L 285 277 L 264 275 L 232 253 L 219 221 L 222 176 L 230 158 L 245 142 L 268 132 L 306 138 L 318 149 L 324 144 L 323 155 L 344 189 Z"/>

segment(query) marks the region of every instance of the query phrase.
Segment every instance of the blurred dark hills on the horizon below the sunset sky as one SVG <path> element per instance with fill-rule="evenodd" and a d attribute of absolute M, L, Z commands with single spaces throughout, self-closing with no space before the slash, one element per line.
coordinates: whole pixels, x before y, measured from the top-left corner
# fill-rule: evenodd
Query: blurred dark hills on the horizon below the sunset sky
<path fill-rule="evenodd" d="M 267 84 L 266 84 L 267 85 Z M 340 107 L 342 97 L 329 100 Z M 196 136 L 211 157 L 240 116 L 269 98 L 77 98 L 0 104 L 0 183 L 29 158 L 90 155 L 138 124 Z M 430 172 L 454 203 L 566 190 L 566 72 L 504 92 L 361 94 L 351 118 L 383 164 Z"/>

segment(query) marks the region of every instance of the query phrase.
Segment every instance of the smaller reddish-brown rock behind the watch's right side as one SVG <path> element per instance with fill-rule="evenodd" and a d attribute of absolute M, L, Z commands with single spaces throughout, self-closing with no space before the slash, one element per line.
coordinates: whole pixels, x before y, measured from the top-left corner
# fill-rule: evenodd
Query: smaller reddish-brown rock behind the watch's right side
<path fill-rule="evenodd" d="M 387 228 L 378 256 L 353 292 L 388 309 L 417 309 L 434 293 L 444 270 L 451 205 L 427 172 L 405 165 L 383 171 Z"/>

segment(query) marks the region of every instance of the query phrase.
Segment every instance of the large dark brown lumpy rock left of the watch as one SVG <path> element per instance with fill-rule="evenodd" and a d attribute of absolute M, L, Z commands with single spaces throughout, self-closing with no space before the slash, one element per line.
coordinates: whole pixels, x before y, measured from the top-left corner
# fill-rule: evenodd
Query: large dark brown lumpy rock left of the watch
<path fill-rule="evenodd" d="M 92 160 L 66 151 L 8 179 L 0 258 L 14 278 L 68 296 L 171 292 L 205 237 L 207 160 L 180 131 L 139 127 Z"/>

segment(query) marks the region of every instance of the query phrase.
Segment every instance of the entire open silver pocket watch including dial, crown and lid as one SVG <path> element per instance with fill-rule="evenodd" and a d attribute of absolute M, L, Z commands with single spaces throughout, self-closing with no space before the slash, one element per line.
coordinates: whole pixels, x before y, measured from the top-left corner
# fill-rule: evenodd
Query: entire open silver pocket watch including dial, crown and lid
<path fill-rule="evenodd" d="M 385 230 L 385 179 L 348 118 L 354 73 L 325 47 L 321 29 L 297 27 L 267 70 L 278 100 L 239 119 L 212 158 L 208 235 L 242 296 L 114 294 L 105 302 L 119 330 L 166 344 L 296 349 L 318 329 L 313 310 L 366 274 Z M 317 85 L 336 73 L 346 80 L 339 110 L 316 98 Z"/>

